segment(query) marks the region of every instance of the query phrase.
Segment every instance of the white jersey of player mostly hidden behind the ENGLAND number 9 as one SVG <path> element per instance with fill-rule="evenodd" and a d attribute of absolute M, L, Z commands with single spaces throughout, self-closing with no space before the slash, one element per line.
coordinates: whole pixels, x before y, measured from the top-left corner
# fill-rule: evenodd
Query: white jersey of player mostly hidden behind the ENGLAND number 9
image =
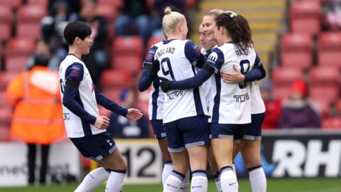
<path fill-rule="evenodd" d="M 156 49 L 162 43 L 163 42 L 160 41 L 151 46 L 146 55 L 146 60 L 153 60 Z M 160 80 L 156 78 L 153 80 L 151 94 L 149 95 L 148 116 L 150 120 L 163 119 L 163 101 L 165 100 L 164 95 L 165 93 L 160 87 Z"/>

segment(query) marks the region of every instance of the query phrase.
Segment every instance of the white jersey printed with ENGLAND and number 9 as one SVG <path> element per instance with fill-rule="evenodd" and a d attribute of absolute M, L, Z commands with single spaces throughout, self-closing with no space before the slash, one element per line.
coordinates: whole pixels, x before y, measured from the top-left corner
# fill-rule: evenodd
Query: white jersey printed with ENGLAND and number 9
<path fill-rule="evenodd" d="M 185 80 L 194 77 L 198 54 L 200 54 L 200 50 L 192 41 L 176 39 L 163 41 L 154 56 L 161 65 L 158 77 L 168 80 Z M 169 90 L 165 93 L 163 123 L 199 114 L 207 114 L 205 93 L 202 87 Z"/>

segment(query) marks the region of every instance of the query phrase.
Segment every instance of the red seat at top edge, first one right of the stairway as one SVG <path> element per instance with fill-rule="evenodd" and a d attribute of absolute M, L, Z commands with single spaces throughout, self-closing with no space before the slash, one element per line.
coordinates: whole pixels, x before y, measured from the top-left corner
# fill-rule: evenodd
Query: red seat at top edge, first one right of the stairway
<path fill-rule="evenodd" d="M 293 1 L 290 6 L 291 32 L 317 35 L 321 29 L 322 11 L 316 1 Z"/>

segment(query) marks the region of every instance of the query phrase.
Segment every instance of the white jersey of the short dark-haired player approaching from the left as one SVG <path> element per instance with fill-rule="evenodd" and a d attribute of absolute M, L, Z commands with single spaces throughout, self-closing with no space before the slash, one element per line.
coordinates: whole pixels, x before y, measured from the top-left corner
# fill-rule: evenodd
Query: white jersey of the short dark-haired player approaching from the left
<path fill-rule="evenodd" d="M 75 68 L 72 71 L 72 68 Z M 77 103 L 89 114 L 94 117 L 99 116 L 96 97 L 94 95 L 94 87 L 92 84 L 92 79 L 90 73 L 87 70 L 85 64 L 77 58 L 75 55 L 69 54 L 60 63 L 59 68 L 59 78 L 60 78 L 60 95 L 63 100 L 64 87 L 65 87 L 65 77 L 67 73 L 79 73 L 82 80 L 78 87 L 78 95 L 76 95 Z M 83 73 L 83 74 L 82 74 Z M 76 74 L 78 75 L 78 74 Z M 94 125 L 82 121 L 80 117 L 72 113 L 67 107 L 63 105 L 64 123 L 67 133 L 67 137 L 85 137 L 92 134 L 99 134 L 105 132 L 105 130 L 98 129 Z"/>

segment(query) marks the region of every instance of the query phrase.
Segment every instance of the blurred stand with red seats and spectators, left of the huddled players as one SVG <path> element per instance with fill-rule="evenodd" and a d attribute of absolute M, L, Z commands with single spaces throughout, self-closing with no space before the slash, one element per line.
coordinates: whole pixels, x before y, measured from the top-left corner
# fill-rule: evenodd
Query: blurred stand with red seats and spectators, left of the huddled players
<path fill-rule="evenodd" d="M 163 38 L 160 18 L 164 7 L 176 6 L 186 13 L 187 9 L 194 8 L 193 2 L 195 1 L 1 1 L 1 96 L 5 94 L 6 86 L 14 75 L 34 68 L 36 55 L 46 55 L 50 70 L 57 71 L 68 51 L 63 39 L 67 22 L 83 21 L 92 28 L 94 43 L 90 54 L 84 55 L 82 60 L 88 64 L 94 85 L 119 103 L 124 102 L 119 99 L 121 92 L 127 89 L 134 92 L 134 104 L 131 105 L 138 105 L 148 114 L 148 93 L 138 94 L 135 87 L 142 70 L 144 53 L 153 42 Z M 0 105 L 0 132 L 4 133 L 0 140 L 9 140 L 11 106 L 4 100 Z M 100 110 L 107 113 L 103 108 Z M 141 137 L 153 136 L 149 124 L 147 130 L 146 122 L 141 124 Z"/>

